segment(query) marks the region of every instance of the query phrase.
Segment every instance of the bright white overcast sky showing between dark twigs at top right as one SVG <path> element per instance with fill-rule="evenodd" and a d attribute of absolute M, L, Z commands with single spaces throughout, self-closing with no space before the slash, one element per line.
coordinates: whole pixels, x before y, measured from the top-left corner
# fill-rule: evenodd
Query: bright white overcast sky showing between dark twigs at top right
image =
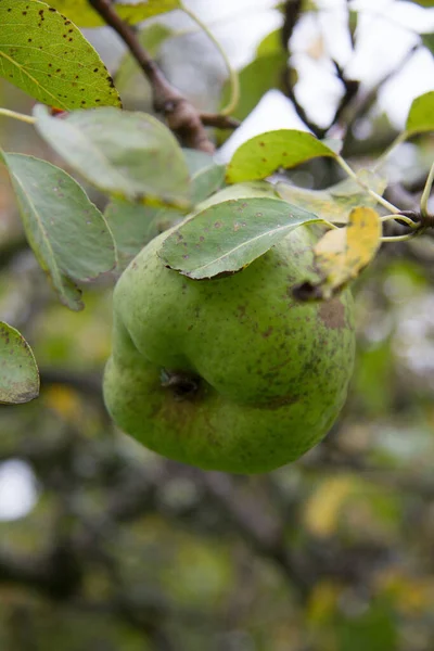
<path fill-rule="evenodd" d="M 248 63 L 256 44 L 281 24 L 279 12 L 272 9 L 273 0 L 241 0 L 237 4 L 232 0 L 190 0 L 190 4 L 215 24 L 214 33 L 237 66 Z M 396 0 L 354 0 L 349 7 L 359 15 L 357 48 L 353 52 L 346 28 L 346 0 L 320 0 L 317 5 L 317 13 L 305 14 L 298 22 L 291 42 L 299 75 L 297 98 L 309 117 L 327 126 L 334 114 L 342 87 L 330 63 L 332 55 L 347 77 L 359 79 L 367 88 L 391 71 L 398 71 L 384 86 L 379 102 L 394 126 L 403 128 L 412 100 L 434 90 L 433 55 L 421 48 L 406 61 L 408 52 L 420 43 L 419 31 L 434 33 L 434 9 Z M 229 158 L 241 142 L 254 135 L 276 128 L 305 127 L 291 102 L 273 91 L 228 141 L 222 157 Z"/>

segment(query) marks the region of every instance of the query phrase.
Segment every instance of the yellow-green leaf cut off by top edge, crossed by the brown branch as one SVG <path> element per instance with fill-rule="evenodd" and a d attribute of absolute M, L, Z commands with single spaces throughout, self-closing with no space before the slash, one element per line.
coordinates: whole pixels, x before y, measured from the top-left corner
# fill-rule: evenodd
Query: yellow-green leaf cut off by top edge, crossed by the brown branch
<path fill-rule="evenodd" d="M 88 0 L 50 0 L 50 5 L 79 27 L 103 27 L 105 25 L 103 18 L 90 7 Z M 146 0 L 138 3 L 116 4 L 116 13 L 123 21 L 131 25 L 175 9 L 181 9 L 179 0 Z"/>

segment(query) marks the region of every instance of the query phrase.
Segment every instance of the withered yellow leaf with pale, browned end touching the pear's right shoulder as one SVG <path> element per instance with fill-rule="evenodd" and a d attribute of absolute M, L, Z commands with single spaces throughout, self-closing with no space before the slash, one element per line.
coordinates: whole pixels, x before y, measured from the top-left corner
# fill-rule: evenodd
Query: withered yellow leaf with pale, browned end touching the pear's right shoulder
<path fill-rule="evenodd" d="M 374 257 L 381 238 L 379 214 L 372 208 L 354 208 L 348 226 L 326 233 L 315 247 L 316 265 L 323 281 L 321 297 L 330 298 L 336 290 L 357 278 Z"/>

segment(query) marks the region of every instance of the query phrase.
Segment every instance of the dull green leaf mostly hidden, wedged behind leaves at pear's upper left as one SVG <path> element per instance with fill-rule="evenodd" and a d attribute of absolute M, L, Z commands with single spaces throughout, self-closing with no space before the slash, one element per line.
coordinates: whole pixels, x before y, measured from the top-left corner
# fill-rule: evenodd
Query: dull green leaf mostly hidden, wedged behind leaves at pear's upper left
<path fill-rule="evenodd" d="M 116 242 L 118 272 L 148 242 L 183 217 L 179 210 L 153 208 L 116 199 L 108 203 L 104 216 Z"/>

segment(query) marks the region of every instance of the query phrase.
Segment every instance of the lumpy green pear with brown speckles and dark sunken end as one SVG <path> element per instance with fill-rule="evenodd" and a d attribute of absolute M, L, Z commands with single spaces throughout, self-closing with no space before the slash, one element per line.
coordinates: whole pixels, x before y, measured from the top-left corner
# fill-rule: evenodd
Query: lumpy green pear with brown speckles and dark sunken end
<path fill-rule="evenodd" d="M 294 461 L 330 430 L 354 362 L 349 290 L 297 303 L 318 227 L 302 226 L 243 271 L 190 280 L 145 246 L 114 293 L 104 398 L 117 425 L 184 463 L 234 473 Z"/>

